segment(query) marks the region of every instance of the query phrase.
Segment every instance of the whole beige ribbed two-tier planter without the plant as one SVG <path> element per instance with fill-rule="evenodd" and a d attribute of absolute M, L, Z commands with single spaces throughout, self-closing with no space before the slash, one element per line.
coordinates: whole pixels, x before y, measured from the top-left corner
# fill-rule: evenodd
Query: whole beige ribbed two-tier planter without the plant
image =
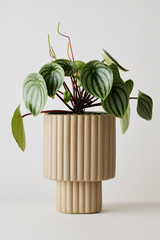
<path fill-rule="evenodd" d="M 115 118 L 44 114 L 43 153 L 43 175 L 57 181 L 57 210 L 99 212 L 102 181 L 115 177 Z"/>

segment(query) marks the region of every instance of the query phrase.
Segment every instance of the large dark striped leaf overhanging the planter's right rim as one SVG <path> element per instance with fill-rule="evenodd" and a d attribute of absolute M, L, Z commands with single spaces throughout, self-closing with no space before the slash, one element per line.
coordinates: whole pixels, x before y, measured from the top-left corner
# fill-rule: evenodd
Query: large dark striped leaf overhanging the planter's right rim
<path fill-rule="evenodd" d="M 112 116 L 122 118 L 129 103 L 129 92 L 122 82 L 113 84 L 112 90 L 105 100 L 101 100 L 103 109 Z"/>

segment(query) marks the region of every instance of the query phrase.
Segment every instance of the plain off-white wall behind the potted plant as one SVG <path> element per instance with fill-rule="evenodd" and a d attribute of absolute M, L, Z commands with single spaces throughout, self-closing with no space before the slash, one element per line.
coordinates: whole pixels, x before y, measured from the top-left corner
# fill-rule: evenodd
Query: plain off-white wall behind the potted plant
<path fill-rule="evenodd" d="M 55 182 L 42 174 L 43 116 L 24 119 L 27 147 L 23 153 L 11 135 L 11 118 L 21 103 L 28 73 L 51 61 L 47 33 L 58 58 L 67 58 L 71 37 L 76 60 L 101 60 L 102 48 L 130 71 L 124 79 L 153 98 L 153 119 L 142 120 L 131 102 L 125 135 L 117 120 L 116 177 L 103 182 L 103 202 L 160 201 L 160 4 L 158 0 L 1 0 L 0 7 L 0 201 L 55 201 Z M 65 109 L 58 99 L 45 109 Z M 97 108 L 94 110 L 101 110 Z M 54 204 L 54 203 L 53 203 Z"/>

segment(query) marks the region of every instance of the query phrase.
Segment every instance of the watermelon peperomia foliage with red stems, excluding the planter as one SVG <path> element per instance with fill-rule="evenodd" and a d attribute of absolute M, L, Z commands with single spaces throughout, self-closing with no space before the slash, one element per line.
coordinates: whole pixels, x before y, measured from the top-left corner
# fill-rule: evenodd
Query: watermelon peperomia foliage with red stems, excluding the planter
<path fill-rule="evenodd" d="M 60 23 L 59 23 L 60 24 Z M 75 61 L 70 37 L 57 31 L 69 40 L 67 55 L 68 59 L 57 59 L 50 45 L 48 35 L 49 54 L 54 59 L 45 64 L 39 73 L 29 74 L 23 83 L 23 98 L 26 108 L 30 111 L 21 115 L 20 105 L 12 118 L 12 133 L 19 147 L 25 149 L 25 132 L 23 118 L 28 115 L 37 116 L 39 113 L 77 113 L 83 114 L 86 108 L 102 106 L 108 114 L 120 118 L 122 133 L 129 126 L 130 99 L 137 99 L 137 113 L 140 117 L 151 120 L 152 99 L 139 91 L 138 97 L 130 97 L 133 89 L 131 79 L 123 81 L 119 69 L 123 68 L 107 51 L 104 51 L 102 61 L 92 60 L 88 63 Z M 69 56 L 71 52 L 72 59 Z M 68 79 L 71 81 L 71 89 L 68 87 Z M 59 89 L 63 86 L 64 91 Z M 42 111 L 47 98 L 58 97 L 69 111 L 46 110 Z"/>

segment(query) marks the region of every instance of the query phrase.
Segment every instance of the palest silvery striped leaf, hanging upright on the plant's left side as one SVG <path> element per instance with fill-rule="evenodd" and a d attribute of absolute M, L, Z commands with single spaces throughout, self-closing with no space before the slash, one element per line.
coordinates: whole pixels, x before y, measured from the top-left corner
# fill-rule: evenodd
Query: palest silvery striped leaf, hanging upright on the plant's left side
<path fill-rule="evenodd" d="M 33 116 L 37 116 L 44 108 L 47 102 L 47 88 L 39 73 L 31 73 L 24 80 L 23 99 Z"/>

